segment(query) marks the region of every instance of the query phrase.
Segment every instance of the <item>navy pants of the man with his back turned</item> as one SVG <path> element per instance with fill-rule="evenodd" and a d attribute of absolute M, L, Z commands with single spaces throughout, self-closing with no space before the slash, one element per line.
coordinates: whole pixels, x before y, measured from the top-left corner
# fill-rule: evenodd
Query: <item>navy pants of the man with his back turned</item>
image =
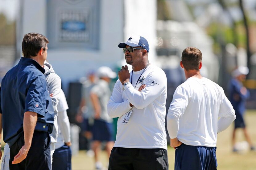
<path fill-rule="evenodd" d="M 216 147 L 181 144 L 175 149 L 175 170 L 217 170 Z"/>

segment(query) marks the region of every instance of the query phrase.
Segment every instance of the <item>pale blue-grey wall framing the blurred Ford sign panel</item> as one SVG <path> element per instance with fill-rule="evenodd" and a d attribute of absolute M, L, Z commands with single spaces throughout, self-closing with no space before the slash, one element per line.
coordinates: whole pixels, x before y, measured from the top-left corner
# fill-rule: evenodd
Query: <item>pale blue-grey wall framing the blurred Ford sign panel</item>
<path fill-rule="evenodd" d="M 85 76 L 87 70 L 103 65 L 114 68 L 116 61 L 122 59 L 118 43 L 123 41 L 123 1 L 101 0 L 100 3 L 99 50 L 49 48 L 47 51 L 47 60 L 61 77 L 65 91 L 69 82 Z M 30 32 L 47 36 L 46 6 L 46 0 L 23 0 L 22 38 Z M 17 40 L 20 52 L 21 42 L 21 38 Z"/>

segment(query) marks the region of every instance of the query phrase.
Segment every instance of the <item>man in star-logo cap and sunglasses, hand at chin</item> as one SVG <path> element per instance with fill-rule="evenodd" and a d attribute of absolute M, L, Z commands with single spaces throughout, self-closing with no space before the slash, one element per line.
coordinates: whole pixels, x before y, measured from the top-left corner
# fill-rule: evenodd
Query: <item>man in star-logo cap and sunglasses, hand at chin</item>
<path fill-rule="evenodd" d="M 118 72 L 108 102 L 108 114 L 118 118 L 117 139 L 109 170 L 168 169 L 165 132 L 167 78 L 148 61 L 149 45 L 141 36 L 120 43 L 127 66 Z"/>

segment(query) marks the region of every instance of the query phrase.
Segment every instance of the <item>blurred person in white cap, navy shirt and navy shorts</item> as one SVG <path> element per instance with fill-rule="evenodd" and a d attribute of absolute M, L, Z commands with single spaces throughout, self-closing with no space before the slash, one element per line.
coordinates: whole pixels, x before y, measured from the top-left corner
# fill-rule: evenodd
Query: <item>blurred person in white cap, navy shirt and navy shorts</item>
<path fill-rule="evenodd" d="M 246 87 L 243 86 L 242 82 L 245 81 L 246 75 L 248 73 L 249 73 L 249 68 L 240 66 L 232 72 L 233 79 L 231 79 L 230 81 L 230 89 L 229 89 L 230 99 L 229 100 L 233 105 L 233 108 L 235 110 L 236 117 L 237 117 L 234 121 L 235 127 L 232 135 L 233 152 L 237 152 L 239 150 L 239 148 L 235 147 L 235 138 L 236 138 L 237 128 L 243 129 L 244 136 L 246 138 L 246 141 L 250 145 L 250 149 L 252 151 L 256 151 L 249 137 L 249 134 L 247 132 L 246 124 L 244 120 L 244 114 L 246 110 L 246 99 L 249 98 L 250 93 L 246 89 Z"/>

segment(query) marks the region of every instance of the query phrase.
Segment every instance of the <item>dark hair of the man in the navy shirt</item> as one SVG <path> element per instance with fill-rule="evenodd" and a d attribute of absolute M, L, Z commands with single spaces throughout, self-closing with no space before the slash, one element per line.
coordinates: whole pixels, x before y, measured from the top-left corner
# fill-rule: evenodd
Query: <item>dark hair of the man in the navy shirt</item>
<path fill-rule="evenodd" d="M 22 41 L 23 56 L 25 58 L 30 58 L 31 56 L 35 57 L 41 48 L 43 48 L 43 50 L 46 50 L 46 46 L 48 43 L 48 39 L 42 34 L 26 34 Z"/>

